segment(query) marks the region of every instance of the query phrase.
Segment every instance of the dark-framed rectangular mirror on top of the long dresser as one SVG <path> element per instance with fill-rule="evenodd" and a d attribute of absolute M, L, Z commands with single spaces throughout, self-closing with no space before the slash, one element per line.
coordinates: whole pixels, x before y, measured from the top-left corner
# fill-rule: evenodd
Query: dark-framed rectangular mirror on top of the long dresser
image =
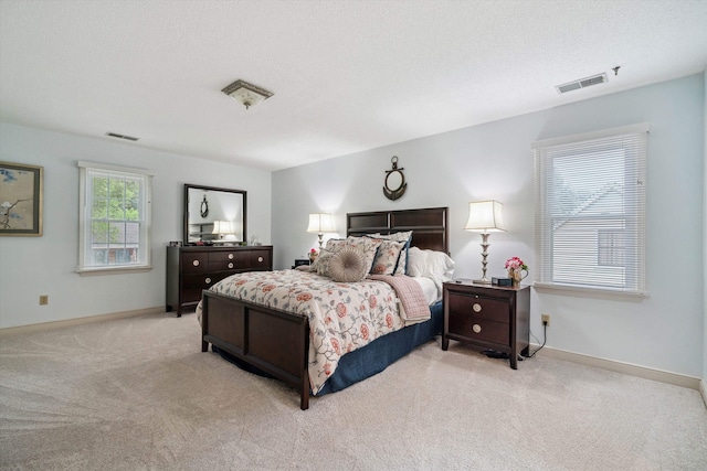
<path fill-rule="evenodd" d="M 184 184 L 183 244 L 235 244 L 247 240 L 246 192 Z"/>

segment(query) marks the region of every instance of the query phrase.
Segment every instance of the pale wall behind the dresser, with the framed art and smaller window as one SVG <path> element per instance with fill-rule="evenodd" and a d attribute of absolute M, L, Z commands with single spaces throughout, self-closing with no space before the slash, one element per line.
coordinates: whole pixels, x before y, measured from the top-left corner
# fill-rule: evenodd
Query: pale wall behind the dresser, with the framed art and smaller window
<path fill-rule="evenodd" d="M 131 143 L 0 124 L 0 160 L 44 167 L 44 235 L 0 237 L 0 328 L 165 306 L 165 247 L 182 237 L 184 183 L 247 191 L 249 233 L 270 243 L 271 173 Z M 152 270 L 81 277 L 76 161 L 154 171 Z M 39 306 L 49 295 L 49 306 Z"/>

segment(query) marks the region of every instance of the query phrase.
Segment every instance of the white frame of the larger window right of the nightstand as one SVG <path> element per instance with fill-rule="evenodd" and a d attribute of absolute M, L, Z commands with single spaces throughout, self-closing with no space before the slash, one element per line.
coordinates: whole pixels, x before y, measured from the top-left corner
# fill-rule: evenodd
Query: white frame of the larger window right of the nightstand
<path fill-rule="evenodd" d="M 534 158 L 535 158 L 535 211 L 536 211 L 536 254 L 537 264 L 535 269 L 535 283 L 536 288 L 552 289 L 552 290 L 569 290 L 580 291 L 585 293 L 597 295 L 622 295 L 622 296 L 648 296 L 646 290 L 646 260 L 645 260 L 645 218 L 646 218 L 646 164 L 647 164 L 647 133 L 650 132 L 650 125 L 647 122 L 623 126 L 619 128 L 604 129 L 594 132 L 588 132 L 582 135 L 566 136 L 555 139 L 546 139 L 534 142 L 531 144 Z M 644 135 L 644 136 L 641 136 Z M 611 283 L 602 285 L 590 281 L 590 271 L 585 274 L 588 278 L 579 279 L 577 282 L 567 281 L 560 279 L 561 277 L 555 274 L 555 257 L 558 249 L 577 249 L 579 250 L 580 244 L 585 239 L 581 239 L 580 236 L 572 240 L 564 237 L 562 246 L 555 245 L 556 229 L 552 227 L 557 214 L 551 212 L 551 203 L 556 200 L 551 200 L 553 190 L 560 190 L 561 181 L 556 183 L 552 180 L 550 165 L 552 159 L 556 158 L 576 158 L 577 156 L 583 156 L 585 153 L 601 154 L 604 153 L 604 147 L 609 148 L 611 142 L 622 137 L 636 139 L 637 147 L 635 157 L 631 159 L 629 157 L 623 158 L 623 172 L 625 179 L 635 179 L 636 185 L 629 191 L 630 197 L 624 194 L 622 196 L 623 212 L 620 213 L 620 220 L 629 225 L 635 225 L 626 231 L 625 227 L 621 228 L 623 234 L 624 247 L 631 245 L 634 248 L 634 253 L 624 254 L 624 265 L 621 266 L 624 269 L 623 283 L 620 287 L 610 286 Z M 576 149 L 571 149 L 576 146 Z M 589 148 L 594 148 L 593 151 L 588 151 Z M 558 157 L 559 156 L 559 157 Z M 597 180 L 600 180 L 599 175 Z M 630 204 L 625 204 L 629 202 Z M 557 207 L 557 206 L 555 206 Z M 615 214 L 611 214 L 609 217 L 616 217 Z M 591 216 L 585 217 L 591 218 Z M 603 247 L 600 244 L 601 227 L 599 226 L 585 226 L 587 229 L 597 231 L 595 244 L 597 244 L 597 267 L 611 268 L 615 265 L 600 264 L 602 260 L 602 253 L 605 255 L 605 250 L 614 251 L 615 246 Z M 616 228 L 608 228 L 615 233 Z M 627 239 L 625 237 L 629 237 Z M 615 254 L 614 254 L 615 255 Z M 613 257 L 610 257 L 613 258 Z M 627 281 L 626 281 L 627 280 Z"/>

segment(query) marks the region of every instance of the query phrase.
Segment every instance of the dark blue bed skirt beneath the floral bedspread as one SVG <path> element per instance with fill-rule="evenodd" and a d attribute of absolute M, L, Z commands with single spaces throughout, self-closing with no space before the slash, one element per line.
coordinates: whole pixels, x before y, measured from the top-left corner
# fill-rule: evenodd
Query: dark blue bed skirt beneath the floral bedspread
<path fill-rule="evenodd" d="M 432 311 L 432 319 L 429 321 L 389 333 L 386 336 L 376 339 L 361 349 L 341 356 L 336 371 L 329 379 L 327 379 L 324 388 L 317 396 L 336 393 L 359 381 L 373 376 L 418 346 L 434 339 L 435 335 L 442 332 L 442 318 L 444 315 L 442 302 L 440 301 L 431 306 L 430 310 Z M 215 345 L 211 345 L 211 350 L 242 370 L 271 377 L 267 373 L 240 361 Z"/>

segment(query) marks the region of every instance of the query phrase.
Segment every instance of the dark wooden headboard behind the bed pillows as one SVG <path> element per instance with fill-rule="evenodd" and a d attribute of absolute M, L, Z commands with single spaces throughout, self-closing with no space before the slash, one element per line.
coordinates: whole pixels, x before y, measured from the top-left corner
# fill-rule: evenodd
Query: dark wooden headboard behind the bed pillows
<path fill-rule="evenodd" d="M 447 213 L 447 207 L 348 213 L 346 235 L 361 236 L 371 233 L 391 234 L 412 231 L 410 245 L 449 254 Z"/>

